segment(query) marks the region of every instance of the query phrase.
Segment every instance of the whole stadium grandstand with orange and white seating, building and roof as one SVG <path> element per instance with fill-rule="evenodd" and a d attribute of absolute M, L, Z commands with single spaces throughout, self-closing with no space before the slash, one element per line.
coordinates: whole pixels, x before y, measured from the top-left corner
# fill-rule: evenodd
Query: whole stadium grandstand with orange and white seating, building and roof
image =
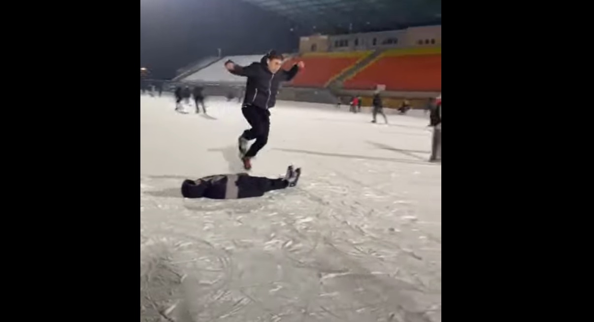
<path fill-rule="evenodd" d="M 285 68 L 304 61 L 306 68 L 285 84 L 279 99 L 364 105 L 378 88 L 386 105 L 403 99 L 421 108 L 441 93 L 441 1 L 411 4 L 393 0 L 238 0 L 274 12 L 311 30 L 299 52 L 287 53 Z M 223 62 L 260 61 L 264 52 L 208 57 L 178 71 L 173 83 L 204 86 L 207 94 L 225 95 L 245 84 Z"/>

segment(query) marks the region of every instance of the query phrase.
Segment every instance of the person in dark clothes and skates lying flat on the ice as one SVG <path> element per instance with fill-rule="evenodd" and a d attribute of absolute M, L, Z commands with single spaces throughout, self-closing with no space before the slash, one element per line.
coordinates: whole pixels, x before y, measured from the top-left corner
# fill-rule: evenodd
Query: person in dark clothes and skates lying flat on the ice
<path fill-rule="evenodd" d="M 295 187 L 301 176 L 301 168 L 289 166 L 285 178 L 270 179 L 250 176 L 247 173 L 212 175 L 197 180 L 185 180 L 182 184 L 184 198 L 197 199 L 242 199 L 262 197 L 266 192 Z"/>

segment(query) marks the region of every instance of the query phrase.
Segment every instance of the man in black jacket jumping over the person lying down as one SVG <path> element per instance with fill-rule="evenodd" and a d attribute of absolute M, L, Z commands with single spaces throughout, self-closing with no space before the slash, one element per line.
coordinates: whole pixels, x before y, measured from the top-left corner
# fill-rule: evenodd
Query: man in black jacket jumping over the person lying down
<path fill-rule="evenodd" d="M 225 68 L 233 74 L 247 77 L 242 113 L 251 129 L 239 137 L 239 152 L 244 168 L 252 168 L 251 159 L 268 143 L 270 132 L 270 111 L 276 105 L 276 96 L 282 82 L 290 81 L 305 67 L 298 62 L 286 71 L 282 69 L 285 58 L 275 51 L 269 52 L 260 62 L 243 67 L 232 61 L 225 62 Z M 255 140 L 249 147 L 249 141 Z"/>

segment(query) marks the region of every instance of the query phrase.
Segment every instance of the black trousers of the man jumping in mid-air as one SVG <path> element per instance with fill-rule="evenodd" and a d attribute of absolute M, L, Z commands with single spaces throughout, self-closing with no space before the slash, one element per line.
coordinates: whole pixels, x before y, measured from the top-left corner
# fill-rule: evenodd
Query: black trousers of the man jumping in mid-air
<path fill-rule="evenodd" d="M 251 125 L 251 129 L 245 130 L 242 135 L 248 141 L 256 140 L 245 153 L 245 157 L 255 157 L 260 150 L 268 143 L 270 133 L 270 112 L 253 105 L 245 105 L 241 109 L 244 118 Z"/>

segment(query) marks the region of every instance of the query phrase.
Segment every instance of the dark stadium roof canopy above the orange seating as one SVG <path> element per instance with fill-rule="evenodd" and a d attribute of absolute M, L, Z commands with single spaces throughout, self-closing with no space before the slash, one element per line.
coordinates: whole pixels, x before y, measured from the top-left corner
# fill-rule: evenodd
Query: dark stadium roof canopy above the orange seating
<path fill-rule="evenodd" d="M 441 0 L 242 0 L 310 32 L 327 34 L 441 24 Z"/>

